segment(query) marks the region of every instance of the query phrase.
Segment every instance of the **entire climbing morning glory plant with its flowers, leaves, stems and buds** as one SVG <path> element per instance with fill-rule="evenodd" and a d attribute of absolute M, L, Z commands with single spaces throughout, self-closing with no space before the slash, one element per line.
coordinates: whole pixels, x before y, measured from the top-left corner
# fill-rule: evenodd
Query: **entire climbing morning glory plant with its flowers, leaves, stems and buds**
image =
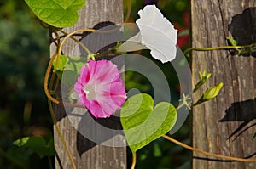
<path fill-rule="evenodd" d="M 131 148 L 133 162 L 131 168 L 136 166 L 136 153 L 138 149 L 154 141 L 157 138 L 166 138 L 172 143 L 183 146 L 186 149 L 198 153 L 229 159 L 234 161 L 256 161 L 256 159 L 243 159 L 225 155 L 216 155 L 195 149 L 189 145 L 182 144 L 168 136 L 168 132 L 177 122 L 177 110 L 185 108 L 190 110 L 193 106 L 203 104 L 215 97 L 221 92 L 224 86 L 223 82 L 213 87 L 208 87 L 201 94 L 201 98 L 192 102 L 193 94 L 201 90 L 201 87 L 210 79 L 211 74 L 199 72 L 200 81 L 195 84 L 190 93 L 183 93 L 180 103 L 175 107 L 168 101 L 155 103 L 152 96 L 147 93 L 135 94 L 127 97 L 125 86 L 122 82 L 117 65 L 111 60 L 99 59 L 102 55 L 121 55 L 130 54 L 137 50 L 150 50 L 153 59 L 159 60 L 161 64 L 172 62 L 177 57 L 177 30 L 169 20 L 160 13 L 160 10 L 154 5 L 147 5 L 138 12 L 140 18 L 136 20 L 138 33 L 125 42 L 118 42 L 113 48 L 109 48 L 102 53 L 93 54 L 90 48 L 87 48 L 74 35 L 89 33 L 108 33 L 109 31 L 96 31 L 94 29 L 81 29 L 73 32 L 63 31 L 63 27 L 74 25 L 78 20 L 78 10 L 85 5 L 84 0 L 77 1 L 59 1 L 59 0 L 25 0 L 32 12 L 41 20 L 44 27 L 49 28 L 55 35 L 56 51 L 50 57 L 49 65 L 44 77 L 44 91 L 49 99 L 49 112 L 54 121 L 54 125 L 61 142 L 64 145 L 67 155 L 76 168 L 73 157 L 69 152 L 67 144 L 62 137 L 59 127 L 56 125 L 56 118 L 52 103 L 63 104 L 65 106 L 79 107 L 89 110 L 95 118 L 108 118 L 114 115 L 116 110 L 120 110 L 120 121 L 125 132 L 127 144 Z M 129 1 L 131 3 L 131 1 Z M 129 19 L 131 6 L 128 8 L 127 17 Z M 155 17 L 155 18 L 154 18 Z M 154 18 L 154 20 L 148 20 Z M 119 28 L 121 25 L 119 26 Z M 64 37 L 59 36 L 61 32 Z M 81 48 L 88 54 L 84 57 L 74 57 L 63 54 L 64 43 L 67 39 L 77 42 Z M 247 46 L 237 46 L 236 41 L 227 37 L 230 46 L 215 48 L 188 48 L 183 53 L 189 57 L 192 50 L 233 50 L 236 54 L 252 54 L 256 51 L 256 44 Z M 166 44 L 168 44 L 166 46 Z M 65 71 L 72 71 L 73 76 L 68 80 L 63 80 Z M 105 70 L 105 71 L 102 71 Z M 61 83 L 69 88 L 69 102 L 63 101 L 57 95 L 56 77 Z M 255 135 L 254 137 L 255 138 Z M 42 149 L 34 149 L 32 144 L 39 143 Z M 40 138 L 20 138 L 15 141 L 16 145 L 34 150 L 38 155 L 54 155 L 53 142 L 48 144 Z M 45 148 L 43 150 L 43 148 Z M 47 151 L 47 149 L 49 151 Z M 46 153 L 47 152 L 47 153 Z"/>

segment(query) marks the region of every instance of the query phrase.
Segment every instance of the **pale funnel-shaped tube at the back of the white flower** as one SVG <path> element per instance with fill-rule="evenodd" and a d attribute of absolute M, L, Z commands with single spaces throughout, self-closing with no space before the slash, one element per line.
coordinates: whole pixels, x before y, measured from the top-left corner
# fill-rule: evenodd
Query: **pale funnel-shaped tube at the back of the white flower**
<path fill-rule="evenodd" d="M 142 50 L 142 49 L 146 49 L 146 48 L 147 47 L 145 47 L 142 44 L 142 37 L 139 32 L 139 33 L 137 33 L 137 35 L 131 37 L 126 42 L 121 44 L 119 46 L 119 48 L 117 48 L 117 50 L 119 52 L 131 52 L 131 51 L 137 51 L 137 50 Z"/>

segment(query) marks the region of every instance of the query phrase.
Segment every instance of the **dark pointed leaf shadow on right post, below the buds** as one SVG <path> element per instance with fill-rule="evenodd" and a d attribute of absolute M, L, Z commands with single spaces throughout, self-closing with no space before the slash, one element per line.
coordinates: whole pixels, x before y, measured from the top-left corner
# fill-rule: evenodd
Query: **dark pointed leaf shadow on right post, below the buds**
<path fill-rule="evenodd" d="M 226 115 L 220 122 L 225 121 L 243 121 L 234 132 L 232 132 L 229 138 L 236 135 L 236 138 L 241 135 L 241 133 L 246 132 L 250 127 L 256 126 L 256 123 L 246 127 L 247 124 L 253 119 L 256 119 L 256 99 L 248 99 L 242 102 L 236 102 L 231 104 L 230 108 L 225 110 Z M 246 127 L 244 130 L 243 127 Z M 239 133 L 238 133 L 239 132 Z M 227 139 L 229 139 L 227 138 Z M 234 138 L 234 139 L 236 139 Z"/>

